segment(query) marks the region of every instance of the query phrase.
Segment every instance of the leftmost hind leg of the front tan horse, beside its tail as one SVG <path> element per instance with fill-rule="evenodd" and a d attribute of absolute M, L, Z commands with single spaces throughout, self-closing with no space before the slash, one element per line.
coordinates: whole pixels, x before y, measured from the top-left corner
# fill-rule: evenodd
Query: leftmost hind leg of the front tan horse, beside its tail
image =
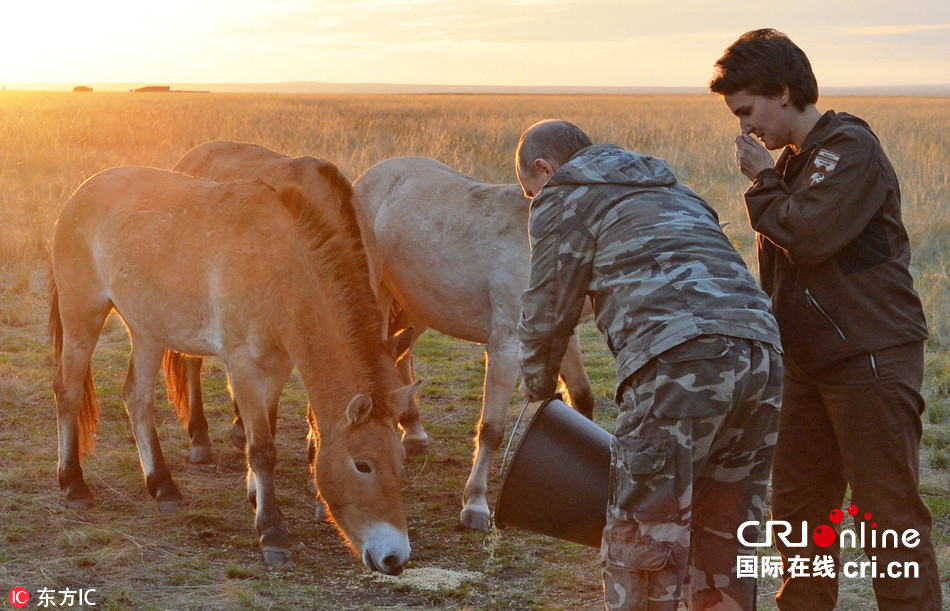
<path fill-rule="evenodd" d="M 60 319 L 58 304 L 53 316 Z M 69 318 L 63 316 L 62 352 L 57 359 L 53 393 L 56 396 L 56 425 L 59 438 L 59 464 L 56 475 L 59 488 L 66 495 L 70 509 L 91 509 L 95 498 L 82 473 L 80 458 L 79 414 L 83 401 L 95 401 L 90 361 L 99 341 L 99 332 L 109 314 L 111 304 L 98 304 L 87 309 L 73 308 Z M 82 313 L 78 313 L 83 310 Z M 70 324 L 71 323 L 71 324 Z M 88 385 L 87 385 L 88 382 Z M 87 396 L 87 392 L 92 396 Z M 85 398 L 85 399 L 84 399 Z"/>

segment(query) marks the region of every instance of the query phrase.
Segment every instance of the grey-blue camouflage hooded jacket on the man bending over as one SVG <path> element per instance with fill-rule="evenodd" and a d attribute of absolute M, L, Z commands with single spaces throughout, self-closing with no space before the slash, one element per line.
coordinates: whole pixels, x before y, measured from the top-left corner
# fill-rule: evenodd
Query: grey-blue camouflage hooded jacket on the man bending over
<path fill-rule="evenodd" d="M 617 386 L 700 335 L 780 345 L 769 298 L 716 212 L 662 159 L 595 145 L 531 203 L 531 272 L 521 297 L 521 371 L 550 396 L 584 299 L 617 361 Z"/>

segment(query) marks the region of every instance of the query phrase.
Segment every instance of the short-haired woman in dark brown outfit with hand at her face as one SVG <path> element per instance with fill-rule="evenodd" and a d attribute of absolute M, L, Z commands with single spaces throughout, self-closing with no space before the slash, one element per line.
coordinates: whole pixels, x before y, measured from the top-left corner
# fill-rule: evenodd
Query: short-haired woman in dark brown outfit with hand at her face
<path fill-rule="evenodd" d="M 894 169 L 867 123 L 818 110 L 808 58 L 780 32 L 739 38 L 716 62 L 710 89 L 739 119 L 736 159 L 753 181 L 746 206 L 785 348 L 773 520 L 796 532 L 805 521 L 811 533 L 834 521 L 850 485 L 855 531 L 919 535 L 913 546 L 885 547 L 880 537 L 865 545 L 880 608 L 940 609 L 932 517 L 918 489 L 927 326 Z M 782 147 L 773 165 L 768 150 Z M 839 543 L 779 541 L 780 609 L 834 608 L 847 568 Z M 827 556 L 831 571 L 790 570 Z M 905 576 L 905 563 L 919 577 Z"/>

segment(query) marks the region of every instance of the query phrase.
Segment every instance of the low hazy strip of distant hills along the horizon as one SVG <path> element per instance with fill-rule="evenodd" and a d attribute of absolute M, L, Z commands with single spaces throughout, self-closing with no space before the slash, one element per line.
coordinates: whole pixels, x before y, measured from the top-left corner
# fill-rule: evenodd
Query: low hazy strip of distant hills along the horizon
<path fill-rule="evenodd" d="M 75 83 L 0 83 L 7 90 L 71 91 Z M 405 85 L 398 83 L 320 83 L 292 81 L 285 83 L 84 83 L 95 91 L 133 91 L 143 87 L 173 91 L 212 91 L 231 93 L 309 93 L 309 94 L 436 94 L 436 93 L 501 93 L 501 94 L 637 94 L 637 93 L 708 93 L 705 87 L 570 87 L 515 85 Z M 930 85 L 824 87 L 822 95 L 895 95 L 950 96 L 950 83 Z"/>

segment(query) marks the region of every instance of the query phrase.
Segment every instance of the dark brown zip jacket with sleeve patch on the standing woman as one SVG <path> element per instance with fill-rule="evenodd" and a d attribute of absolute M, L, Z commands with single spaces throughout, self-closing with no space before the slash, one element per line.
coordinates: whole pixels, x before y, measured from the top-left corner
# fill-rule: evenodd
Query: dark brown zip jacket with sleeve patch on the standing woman
<path fill-rule="evenodd" d="M 825 113 L 745 194 L 786 353 L 805 371 L 927 337 L 900 186 L 867 123 Z"/>

